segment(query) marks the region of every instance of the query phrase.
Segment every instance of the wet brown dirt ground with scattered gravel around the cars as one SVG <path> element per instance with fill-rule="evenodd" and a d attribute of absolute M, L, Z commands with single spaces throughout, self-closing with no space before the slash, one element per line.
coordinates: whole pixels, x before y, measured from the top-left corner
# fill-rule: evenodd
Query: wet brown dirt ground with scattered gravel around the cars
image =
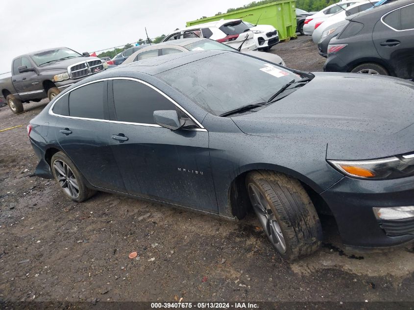
<path fill-rule="evenodd" d="M 309 37 L 271 49 L 322 71 Z M 7 301 L 414 301 L 406 249 L 351 255 L 333 229 L 313 256 L 283 261 L 253 215 L 228 222 L 97 193 L 73 203 L 37 165 L 26 125 L 47 104 L 0 108 L 0 308 Z M 332 221 L 326 221 L 325 231 Z M 332 245 L 334 244 L 334 245 Z M 130 252 L 139 257 L 131 260 Z M 3 308 L 4 309 L 4 308 Z"/>

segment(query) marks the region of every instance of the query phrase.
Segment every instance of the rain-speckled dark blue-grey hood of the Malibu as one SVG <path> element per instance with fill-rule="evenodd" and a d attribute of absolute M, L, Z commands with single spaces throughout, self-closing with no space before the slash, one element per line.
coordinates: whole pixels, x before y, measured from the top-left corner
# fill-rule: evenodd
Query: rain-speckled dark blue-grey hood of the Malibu
<path fill-rule="evenodd" d="M 357 73 L 314 74 L 291 95 L 233 121 L 248 135 L 327 143 L 329 159 L 414 151 L 414 83 Z"/>

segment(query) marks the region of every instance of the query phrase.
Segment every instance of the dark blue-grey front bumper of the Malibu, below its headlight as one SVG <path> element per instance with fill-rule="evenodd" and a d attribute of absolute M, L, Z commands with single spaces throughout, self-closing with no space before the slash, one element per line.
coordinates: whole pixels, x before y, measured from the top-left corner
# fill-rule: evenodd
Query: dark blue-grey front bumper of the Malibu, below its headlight
<path fill-rule="evenodd" d="M 344 245 L 392 247 L 414 241 L 414 218 L 377 220 L 374 207 L 414 205 L 414 177 L 359 180 L 343 177 L 321 193 L 338 224 Z"/>

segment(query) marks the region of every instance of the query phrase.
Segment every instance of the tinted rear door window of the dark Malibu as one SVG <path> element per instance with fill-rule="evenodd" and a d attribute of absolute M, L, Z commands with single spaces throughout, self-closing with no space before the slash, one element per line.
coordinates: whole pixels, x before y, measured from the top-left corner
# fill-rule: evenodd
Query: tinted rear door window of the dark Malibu
<path fill-rule="evenodd" d="M 69 94 L 69 115 L 87 119 L 108 119 L 104 113 L 106 85 L 107 81 L 101 81 L 73 90 Z"/>

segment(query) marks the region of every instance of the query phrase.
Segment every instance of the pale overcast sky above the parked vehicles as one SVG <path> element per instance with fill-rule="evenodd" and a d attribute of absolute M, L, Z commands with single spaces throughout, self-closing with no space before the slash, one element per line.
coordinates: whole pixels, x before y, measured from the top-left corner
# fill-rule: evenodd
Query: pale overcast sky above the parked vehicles
<path fill-rule="evenodd" d="M 14 57 L 45 48 L 80 53 L 168 34 L 187 21 L 212 16 L 251 0 L 2 0 L 0 73 Z M 0 78 L 4 75 L 0 75 Z"/>

